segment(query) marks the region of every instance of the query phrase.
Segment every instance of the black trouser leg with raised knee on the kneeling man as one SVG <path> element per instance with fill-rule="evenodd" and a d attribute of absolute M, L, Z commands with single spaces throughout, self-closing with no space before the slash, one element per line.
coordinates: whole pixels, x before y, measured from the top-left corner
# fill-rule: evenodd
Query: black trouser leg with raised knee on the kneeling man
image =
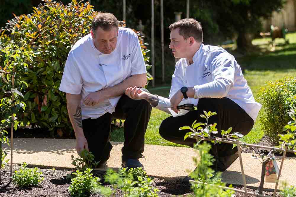
<path fill-rule="evenodd" d="M 126 115 L 124 146 L 121 149 L 123 160 L 142 158 L 151 110 L 151 105 L 145 100 L 133 100 L 126 95 L 120 98 L 115 113 Z"/>

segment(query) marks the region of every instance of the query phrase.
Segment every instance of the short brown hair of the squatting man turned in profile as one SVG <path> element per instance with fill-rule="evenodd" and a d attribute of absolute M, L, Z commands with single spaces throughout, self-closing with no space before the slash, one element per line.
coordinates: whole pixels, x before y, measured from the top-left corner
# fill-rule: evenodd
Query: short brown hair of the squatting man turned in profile
<path fill-rule="evenodd" d="M 202 25 L 197 20 L 191 18 L 191 19 L 182 19 L 178 22 L 175 22 L 170 25 L 170 31 L 174 29 L 180 29 L 179 34 L 183 36 L 185 40 L 192 36 L 195 40 L 198 42 L 203 41 L 202 36 Z"/>

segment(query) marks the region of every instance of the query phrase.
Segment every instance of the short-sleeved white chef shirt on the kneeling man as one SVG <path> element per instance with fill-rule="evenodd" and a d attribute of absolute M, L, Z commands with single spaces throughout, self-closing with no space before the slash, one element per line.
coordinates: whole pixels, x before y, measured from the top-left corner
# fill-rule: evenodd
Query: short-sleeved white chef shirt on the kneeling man
<path fill-rule="evenodd" d="M 133 30 L 119 27 L 116 48 L 110 54 L 99 52 L 91 34 L 78 40 L 68 54 L 59 90 L 81 94 L 82 119 L 99 118 L 112 113 L 121 96 L 109 98 L 95 106 L 83 99 L 91 92 L 113 87 L 135 74 L 146 73 L 138 36 Z"/>

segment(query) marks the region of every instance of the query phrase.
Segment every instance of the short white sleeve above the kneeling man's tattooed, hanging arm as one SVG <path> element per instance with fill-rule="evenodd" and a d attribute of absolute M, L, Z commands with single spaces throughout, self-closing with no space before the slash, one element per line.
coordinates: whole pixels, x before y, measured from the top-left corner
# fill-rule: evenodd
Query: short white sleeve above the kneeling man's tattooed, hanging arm
<path fill-rule="evenodd" d="M 79 95 L 81 93 L 83 79 L 73 52 L 70 51 L 65 64 L 61 84 L 59 90 L 69 94 Z"/>

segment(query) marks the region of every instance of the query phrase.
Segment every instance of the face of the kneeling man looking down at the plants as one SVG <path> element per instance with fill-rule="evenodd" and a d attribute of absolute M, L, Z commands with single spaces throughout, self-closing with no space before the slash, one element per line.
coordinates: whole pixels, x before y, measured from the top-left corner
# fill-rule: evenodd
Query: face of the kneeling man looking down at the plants
<path fill-rule="evenodd" d="M 118 28 L 112 27 L 109 31 L 98 27 L 95 32 L 91 30 L 96 48 L 104 54 L 110 54 L 116 48 Z"/>

